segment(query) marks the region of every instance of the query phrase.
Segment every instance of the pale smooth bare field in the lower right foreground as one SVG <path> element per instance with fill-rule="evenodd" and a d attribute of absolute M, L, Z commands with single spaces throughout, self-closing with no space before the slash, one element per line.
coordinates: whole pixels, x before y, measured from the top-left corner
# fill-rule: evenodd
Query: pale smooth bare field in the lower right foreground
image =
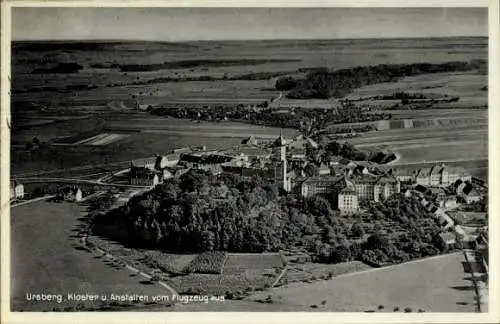
<path fill-rule="evenodd" d="M 463 261 L 463 255 L 455 253 L 311 284 L 293 283 L 250 299 L 271 295 L 276 307 L 316 305 L 324 311 L 376 311 L 383 305 L 387 312 L 396 306 L 401 312 L 406 307 L 414 312 L 474 312 L 474 293 Z"/>

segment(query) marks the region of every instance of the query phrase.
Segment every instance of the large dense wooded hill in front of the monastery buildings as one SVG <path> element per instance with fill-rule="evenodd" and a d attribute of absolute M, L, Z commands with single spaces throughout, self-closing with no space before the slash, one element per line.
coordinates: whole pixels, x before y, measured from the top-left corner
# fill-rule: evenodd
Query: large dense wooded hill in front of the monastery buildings
<path fill-rule="evenodd" d="M 439 226 L 414 198 L 394 196 L 366 215 L 340 217 L 331 201 L 279 196 L 273 183 L 259 177 L 210 181 L 199 171 L 94 216 L 91 228 L 135 247 L 190 253 L 302 250 L 327 263 L 397 263 L 444 251 L 435 238 Z"/>

